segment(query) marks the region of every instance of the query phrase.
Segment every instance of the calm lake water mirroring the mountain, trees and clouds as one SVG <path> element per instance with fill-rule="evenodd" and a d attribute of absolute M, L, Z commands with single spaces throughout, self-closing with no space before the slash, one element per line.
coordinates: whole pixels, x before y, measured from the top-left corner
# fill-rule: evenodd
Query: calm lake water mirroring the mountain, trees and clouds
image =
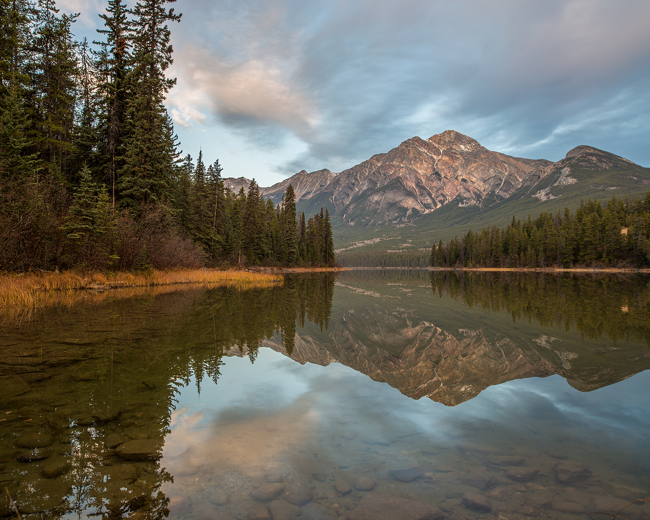
<path fill-rule="evenodd" d="M 649 346 L 640 275 L 109 292 L 0 329 L 0 516 L 650 519 Z"/>

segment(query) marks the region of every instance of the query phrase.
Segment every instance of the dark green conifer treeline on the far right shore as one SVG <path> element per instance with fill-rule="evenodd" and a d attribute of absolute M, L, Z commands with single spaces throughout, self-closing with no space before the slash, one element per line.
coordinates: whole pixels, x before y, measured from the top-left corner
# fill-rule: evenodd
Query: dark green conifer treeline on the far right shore
<path fill-rule="evenodd" d="M 484 227 L 431 248 L 436 267 L 650 266 L 650 192 L 645 198 L 581 202 L 502 229 Z"/>

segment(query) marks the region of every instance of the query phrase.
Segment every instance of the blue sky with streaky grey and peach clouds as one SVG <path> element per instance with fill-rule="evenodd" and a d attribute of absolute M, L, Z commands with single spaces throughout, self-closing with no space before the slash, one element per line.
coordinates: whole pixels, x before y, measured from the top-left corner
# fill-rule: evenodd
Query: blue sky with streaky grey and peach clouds
<path fill-rule="evenodd" d="M 59 0 L 93 34 L 99 0 Z M 177 0 L 183 153 L 268 187 L 454 129 L 562 159 L 588 144 L 650 166 L 647 0 Z"/>

